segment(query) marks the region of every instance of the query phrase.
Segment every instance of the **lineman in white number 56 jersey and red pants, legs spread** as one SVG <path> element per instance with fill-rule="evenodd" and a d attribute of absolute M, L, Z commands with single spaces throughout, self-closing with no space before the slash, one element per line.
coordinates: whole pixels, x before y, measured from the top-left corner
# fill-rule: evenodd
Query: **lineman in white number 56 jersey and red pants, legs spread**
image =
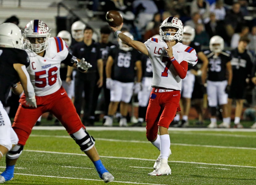
<path fill-rule="evenodd" d="M 1 174 L 1 181 L 9 181 L 14 177 L 14 166 L 22 153 L 23 147 L 31 133 L 36 120 L 44 112 L 52 112 L 68 134 L 91 159 L 101 179 L 105 183 L 114 180 L 101 163 L 94 146 L 95 140 L 85 130 L 85 126 L 76 113 L 76 109 L 61 85 L 60 63 L 77 67 L 86 71 L 91 67 L 85 59 L 76 59 L 68 52 L 65 41 L 60 37 L 49 38 L 49 28 L 41 20 L 31 20 L 24 29 L 26 52 L 30 58 L 27 68 L 32 85 L 35 89 L 37 108 L 29 108 L 23 95 L 14 118 L 12 128 L 19 142 L 6 155 L 6 170 Z"/>

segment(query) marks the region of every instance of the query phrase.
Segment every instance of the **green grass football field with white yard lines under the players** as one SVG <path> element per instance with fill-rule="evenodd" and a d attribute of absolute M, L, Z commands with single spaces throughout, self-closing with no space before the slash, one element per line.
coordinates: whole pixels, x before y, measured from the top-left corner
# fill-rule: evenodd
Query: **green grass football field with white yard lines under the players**
<path fill-rule="evenodd" d="M 63 127 L 34 128 L 14 179 L 5 184 L 105 184 Z M 256 184 L 255 129 L 170 128 L 172 174 L 168 176 L 147 175 L 159 151 L 147 141 L 144 127 L 88 127 L 87 131 L 115 177 L 109 184 Z M 3 159 L 0 171 L 4 167 Z"/>

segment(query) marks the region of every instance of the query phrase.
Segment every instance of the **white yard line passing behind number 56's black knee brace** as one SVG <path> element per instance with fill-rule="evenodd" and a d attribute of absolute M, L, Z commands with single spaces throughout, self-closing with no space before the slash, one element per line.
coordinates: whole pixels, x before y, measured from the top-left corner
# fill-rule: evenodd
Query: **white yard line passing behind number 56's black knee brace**
<path fill-rule="evenodd" d="M 51 136 L 51 135 L 36 135 L 31 134 L 31 137 L 56 137 L 56 138 L 71 138 L 70 136 Z M 146 143 L 151 144 L 149 141 L 137 141 L 137 140 L 114 140 L 105 138 L 95 138 L 95 140 L 110 141 L 110 142 L 124 142 L 124 143 Z M 207 147 L 207 148 L 226 148 L 226 149 L 242 149 L 242 150 L 256 150 L 256 148 L 249 147 L 228 147 L 228 146 L 214 146 L 214 145 L 200 145 L 200 144 L 183 144 L 183 143 L 171 143 L 171 145 L 188 146 L 188 147 Z"/>

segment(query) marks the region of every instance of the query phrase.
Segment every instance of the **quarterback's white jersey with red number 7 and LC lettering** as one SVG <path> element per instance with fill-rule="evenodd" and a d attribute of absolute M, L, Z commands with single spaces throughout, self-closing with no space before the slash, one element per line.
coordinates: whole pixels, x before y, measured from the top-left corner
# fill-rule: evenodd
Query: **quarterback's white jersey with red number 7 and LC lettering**
<path fill-rule="evenodd" d="M 167 55 L 167 44 L 162 39 L 150 38 L 144 43 L 147 47 L 153 68 L 152 87 L 181 90 L 181 78 L 177 74 Z M 180 42 L 172 46 L 173 57 L 180 64 L 187 61 L 196 65 L 197 55 L 195 49 Z"/>

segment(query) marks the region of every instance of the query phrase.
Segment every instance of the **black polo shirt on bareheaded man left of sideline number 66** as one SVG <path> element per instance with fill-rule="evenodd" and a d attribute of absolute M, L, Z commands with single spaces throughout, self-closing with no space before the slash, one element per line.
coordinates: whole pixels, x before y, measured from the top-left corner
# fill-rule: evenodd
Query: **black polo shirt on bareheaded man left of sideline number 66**
<path fill-rule="evenodd" d="M 88 72 L 97 72 L 97 60 L 101 59 L 101 52 L 99 46 L 93 42 L 91 45 L 86 45 L 84 42 L 78 42 L 73 47 L 73 56 L 77 58 L 85 58 L 85 61 L 89 62 L 92 67 L 88 69 Z M 83 76 L 85 73 L 78 73 L 77 75 Z"/>

